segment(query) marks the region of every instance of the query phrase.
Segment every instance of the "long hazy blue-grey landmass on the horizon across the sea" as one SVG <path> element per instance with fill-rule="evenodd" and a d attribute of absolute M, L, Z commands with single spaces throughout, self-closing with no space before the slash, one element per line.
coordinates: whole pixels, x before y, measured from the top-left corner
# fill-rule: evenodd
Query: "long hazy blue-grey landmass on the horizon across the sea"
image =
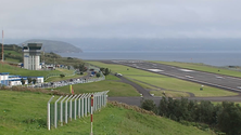
<path fill-rule="evenodd" d="M 241 39 L 64 39 L 84 51 L 241 51 Z"/>

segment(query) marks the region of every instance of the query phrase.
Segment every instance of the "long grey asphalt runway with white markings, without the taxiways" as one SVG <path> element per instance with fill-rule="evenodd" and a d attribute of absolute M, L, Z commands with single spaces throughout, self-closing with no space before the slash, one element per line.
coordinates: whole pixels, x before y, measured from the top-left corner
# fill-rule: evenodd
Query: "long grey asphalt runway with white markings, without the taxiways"
<path fill-rule="evenodd" d="M 241 93 L 241 79 L 240 78 L 216 75 L 216 73 L 208 73 L 208 72 L 191 70 L 191 69 L 183 69 L 179 67 L 149 63 L 144 60 L 112 60 L 112 63 L 138 68 L 141 70 L 147 70 L 154 73 L 164 75 L 164 76 L 168 76 L 168 77 L 173 77 L 173 78 L 177 78 L 177 79 L 181 79 L 186 81 L 192 81 L 192 82 L 196 82 L 203 85 L 211 85 L 211 86 L 216 86 L 219 89 Z"/>

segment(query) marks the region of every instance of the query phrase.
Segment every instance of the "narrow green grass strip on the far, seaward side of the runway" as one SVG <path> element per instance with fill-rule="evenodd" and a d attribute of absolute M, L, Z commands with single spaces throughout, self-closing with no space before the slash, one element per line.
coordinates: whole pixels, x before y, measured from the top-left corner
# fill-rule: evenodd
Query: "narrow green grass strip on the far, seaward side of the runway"
<path fill-rule="evenodd" d="M 152 63 L 165 64 L 165 65 L 177 66 L 177 67 L 181 67 L 181 68 L 188 68 L 188 69 L 193 69 L 193 70 L 200 70 L 200 71 L 206 71 L 206 72 L 213 72 L 213 73 L 218 73 L 218 75 L 226 75 L 226 76 L 241 78 L 240 71 L 233 71 L 233 70 L 228 70 L 228 69 L 224 69 L 224 68 L 212 67 L 212 66 L 207 66 L 207 65 L 203 65 L 203 64 L 178 63 L 178 62 L 153 62 L 153 60 L 152 60 Z"/>

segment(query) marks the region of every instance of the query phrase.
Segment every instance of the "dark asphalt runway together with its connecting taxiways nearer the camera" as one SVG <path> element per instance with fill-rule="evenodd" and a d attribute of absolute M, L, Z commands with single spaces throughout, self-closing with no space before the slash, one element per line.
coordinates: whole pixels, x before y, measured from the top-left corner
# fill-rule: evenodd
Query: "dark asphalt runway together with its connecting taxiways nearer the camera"
<path fill-rule="evenodd" d="M 239 93 L 237 96 L 221 96 L 221 97 L 187 97 L 189 99 L 194 100 L 211 100 L 211 102 L 241 102 L 241 91 L 237 89 L 241 85 L 240 78 L 233 78 L 228 76 L 220 76 L 216 73 L 207 73 L 196 70 L 183 69 L 162 64 L 154 64 L 143 60 L 101 60 L 102 63 L 107 64 L 119 64 L 125 65 L 134 68 L 138 68 L 145 71 L 151 71 L 177 79 L 182 79 L 187 81 L 192 81 L 196 83 L 201 83 L 204 85 L 216 86 L 219 89 L 224 89 L 227 91 L 232 91 Z M 126 103 L 128 105 L 140 106 L 141 100 L 143 98 L 153 99 L 156 105 L 158 105 L 160 99 L 162 97 L 152 97 L 150 94 L 147 94 L 147 90 L 141 87 L 140 85 L 127 80 L 125 77 L 120 78 L 123 82 L 131 84 L 139 93 L 143 94 L 143 97 L 109 97 L 110 100 L 117 100 L 120 103 Z"/>

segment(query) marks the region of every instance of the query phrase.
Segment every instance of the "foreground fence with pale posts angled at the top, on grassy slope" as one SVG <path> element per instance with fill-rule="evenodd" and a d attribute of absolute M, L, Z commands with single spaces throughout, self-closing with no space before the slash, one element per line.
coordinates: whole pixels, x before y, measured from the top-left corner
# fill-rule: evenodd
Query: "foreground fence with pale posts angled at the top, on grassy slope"
<path fill-rule="evenodd" d="M 66 95 L 65 97 L 59 97 L 54 103 L 50 98 L 48 102 L 48 116 L 47 125 L 48 130 L 51 127 L 63 126 L 72 120 L 77 118 L 84 118 L 100 110 L 102 107 L 106 106 L 107 103 L 107 92 L 96 92 L 96 93 L 85 93 L 79 95 Z M 91 95 L 93 96 L 93 107 L 91 110 Z"/>

